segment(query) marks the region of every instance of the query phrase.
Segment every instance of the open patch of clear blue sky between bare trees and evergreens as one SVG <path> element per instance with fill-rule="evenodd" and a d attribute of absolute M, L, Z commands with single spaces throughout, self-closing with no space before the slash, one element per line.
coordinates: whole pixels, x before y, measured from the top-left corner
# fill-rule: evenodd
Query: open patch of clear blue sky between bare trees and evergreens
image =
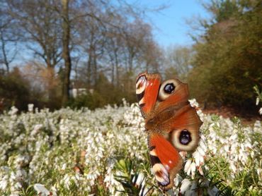
<path fill-rule="evenodd" d="M 168 5 L 160 13 L 149 13 L 149 21 L 154 26 L 154 38 L 159 45 L 190 45 L 192 39 L 188 35 L 190 27 L 186 19 L 207 18 L 209 14 L 200 0 L 140 0 L 139 4 L 145 7 L 156 7 L 161 4 Z"/>

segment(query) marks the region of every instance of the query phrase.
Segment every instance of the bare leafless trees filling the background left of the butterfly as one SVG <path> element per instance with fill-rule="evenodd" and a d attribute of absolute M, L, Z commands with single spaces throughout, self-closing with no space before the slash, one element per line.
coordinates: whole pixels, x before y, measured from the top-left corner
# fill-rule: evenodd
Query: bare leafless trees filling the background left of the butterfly
<path fill-rule="evenodd" d="M 2 107 L 35 102 L 53 109 L 94 108 L 120 103 L 123 97 L 134 102 L 137 72 L 159 70 L 161 51 L 141 6 L 126 1 L 8 0 L 1 1 L 0 9 Z M 11 71 L 14 59 L 20 62 Z M 69 99 L 69 90 L 79 88 L 86 95 Z M 27 92 L 30 99 L 19 104 Z"/>

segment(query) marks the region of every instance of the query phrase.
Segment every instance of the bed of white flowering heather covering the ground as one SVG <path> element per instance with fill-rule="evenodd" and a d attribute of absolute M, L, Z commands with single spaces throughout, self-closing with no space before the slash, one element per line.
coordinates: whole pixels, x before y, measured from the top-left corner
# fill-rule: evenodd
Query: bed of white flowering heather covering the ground
<path fill-rule="evenodd" d="M 169 194 L 261 195 L 261 121 L 242 126 L 237 118 L 198 115 L 199 145 L 180 152 L 184 167 Z M 137 104 L 126 102 L 54 112 L 30 104 L 19 115 L 12 107 L 0 116 L 0 195 L 122 195 L 125 182 L 139 195 L 160 195 L 143 127 Z"/>

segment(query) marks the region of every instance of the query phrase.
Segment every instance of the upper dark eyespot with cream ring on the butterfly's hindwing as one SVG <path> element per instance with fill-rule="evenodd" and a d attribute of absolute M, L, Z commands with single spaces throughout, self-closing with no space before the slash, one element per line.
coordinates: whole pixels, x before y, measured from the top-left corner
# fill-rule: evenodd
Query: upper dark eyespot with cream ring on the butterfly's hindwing
<path fill-rule="evenodd" d="M 176 91 L 176 80 L 166 80 L 162 83 L 159 89 L 159 99 L 160 101 L 164 101 L 167 99 L 173 92 Z"/>

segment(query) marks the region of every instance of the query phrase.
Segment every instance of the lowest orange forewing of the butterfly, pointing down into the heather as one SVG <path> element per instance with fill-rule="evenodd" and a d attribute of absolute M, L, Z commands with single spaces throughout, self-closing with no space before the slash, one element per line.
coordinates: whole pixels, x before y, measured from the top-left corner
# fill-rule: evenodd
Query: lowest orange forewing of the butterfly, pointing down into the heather
<path fill-rule="evenodd" d="M 148 140 L 154 176 L 163 190 L 169 190 L 173 187 L 173 178 L 182 168 L 181 156 L 171 143 L 159 134 L 150 134 Z"/>

